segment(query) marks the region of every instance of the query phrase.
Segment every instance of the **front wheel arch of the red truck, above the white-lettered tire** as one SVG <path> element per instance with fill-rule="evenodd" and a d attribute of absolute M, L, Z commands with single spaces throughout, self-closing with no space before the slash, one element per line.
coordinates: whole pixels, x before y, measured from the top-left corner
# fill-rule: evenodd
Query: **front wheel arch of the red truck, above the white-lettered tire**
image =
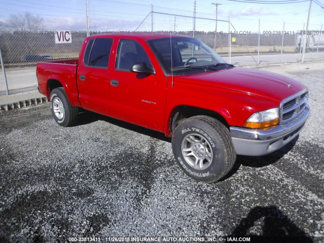
<path fill-rule="evenodd" d="M 216 112 L 214 110 L 209 110 L 201 107 L 179 105 L 175 107 L 170 114 L 165 135 L 167 137 L 172 137 L 174 129 L 181 123 L 183 119 L 196 115 L 207 115 L 213 117 L 224 124 L 227 129 L 229 129 L 228 121 L 231 119 L 231 116 L 229 115 L 227 110 Z"/>

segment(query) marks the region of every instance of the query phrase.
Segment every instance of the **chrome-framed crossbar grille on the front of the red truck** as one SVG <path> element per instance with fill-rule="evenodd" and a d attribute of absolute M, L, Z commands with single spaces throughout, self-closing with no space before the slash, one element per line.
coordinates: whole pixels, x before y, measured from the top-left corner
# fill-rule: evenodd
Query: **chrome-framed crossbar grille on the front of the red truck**
<path fill-rule="evenodd" d="M 301 114 L 308 101 L 308 91 L 300 92 L 281 102 L 280 105 L 280 124 L 289 123 Z"/>

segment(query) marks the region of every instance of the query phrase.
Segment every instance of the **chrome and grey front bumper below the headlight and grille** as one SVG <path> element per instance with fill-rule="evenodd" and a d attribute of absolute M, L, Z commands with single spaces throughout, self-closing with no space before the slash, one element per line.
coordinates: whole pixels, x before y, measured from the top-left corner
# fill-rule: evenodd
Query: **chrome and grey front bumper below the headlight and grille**
<path fill-rule="evenodd" d="M 284 147 L 300 133 L 309 114 L 310 109 L 307 105 L 296 119 L 285 125 L 277 125 L 267 130 L 230 127 L 236 153 L 261 156 Z"/>

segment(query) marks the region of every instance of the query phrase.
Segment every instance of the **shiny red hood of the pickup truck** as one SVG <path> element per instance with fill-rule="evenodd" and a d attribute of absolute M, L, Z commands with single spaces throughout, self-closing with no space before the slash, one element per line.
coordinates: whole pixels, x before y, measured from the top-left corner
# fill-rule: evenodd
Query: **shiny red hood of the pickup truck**
<path fill-rule="evenodd" d="M 235 90 L 279 102 L 306 89 L 306 86 L 290 77 L 241 67 L 194 75 L 174 76 L 174 81 Z"/>

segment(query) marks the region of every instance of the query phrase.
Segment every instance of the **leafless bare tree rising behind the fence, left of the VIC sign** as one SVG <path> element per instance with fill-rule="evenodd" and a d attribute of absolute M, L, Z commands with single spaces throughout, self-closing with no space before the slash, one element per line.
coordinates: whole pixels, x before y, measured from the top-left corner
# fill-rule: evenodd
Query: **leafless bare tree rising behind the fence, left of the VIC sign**
<path fill-rule="evenodd" d="M 9 19 L 9 26 L 20 31 L 34 31 L 44 28 L 44 20 L 40 16 L 29 12 L 24 14 L 12 14 Z"/>

